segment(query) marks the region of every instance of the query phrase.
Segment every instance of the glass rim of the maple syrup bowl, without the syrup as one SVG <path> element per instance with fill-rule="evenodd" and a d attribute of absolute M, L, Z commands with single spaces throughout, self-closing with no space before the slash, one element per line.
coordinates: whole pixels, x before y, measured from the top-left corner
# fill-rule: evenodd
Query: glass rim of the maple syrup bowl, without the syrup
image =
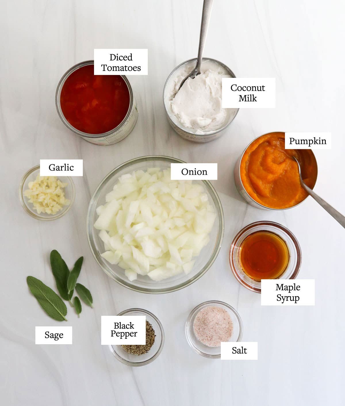
<path fill-rule="evenodd" d="M 234 237 L 234 239 L 232 240 L 231 246 L 230 246 L 230 251 L 229 251 L 229 262 L 230 262 L 230 268 L 232 270 L 232 273 L 234 274 L 234 277 L 236 278 L 236 280 L 245 288 L 251 290 L 252 292 L 256 292 L 256 293 L 261 293 L 261 288 L 257 288 L 257 287 L 252 287 L 250 285 L 248 285 L 247 283 L 245 283 L 245 281 L 243 281 L 243 279 L 240 277 L 240 275 L 237 272 L 237 268 L 234 266 L 233 263 L 233 252 L 234 252 L 234 248 L 235 248 L 235 244 L 237 243 L 237 241 L 239 240 L 239 238 L 241 238 L 241 236 L 243 235 L 243 233 L 245 233 L 246 231 L 259 226 L 259 225 L 269 225 L 272 227 L 276 227 L 282 231 L 284 231 L 284 233 L 286 233 L 292 240 L 293 245 L 296 249 L 296 257 L 297 257 L 297 263 L 295 266 L 295 269 L 293 270 L 291 276 L 289 279 L 296 279 L 299 270 L 301 269 L 301 265 L 302 265 L 302 250 L 301 250 L 301 246 L 299 245 L 299 242 L 297 240 L 297 238 L 295 237 L 295 235 L 286 227 L 284 227 L 283 225 L 274 222 L 274 221 L 266 221 L 266 220 L 261 220 L 261 221 L 254 221 L 248 225 L 246 225 L 245 227 L 243 227 L 243 229 L 241 229 Z M 279 280 L 279 279 L 278 279 Z"/>

